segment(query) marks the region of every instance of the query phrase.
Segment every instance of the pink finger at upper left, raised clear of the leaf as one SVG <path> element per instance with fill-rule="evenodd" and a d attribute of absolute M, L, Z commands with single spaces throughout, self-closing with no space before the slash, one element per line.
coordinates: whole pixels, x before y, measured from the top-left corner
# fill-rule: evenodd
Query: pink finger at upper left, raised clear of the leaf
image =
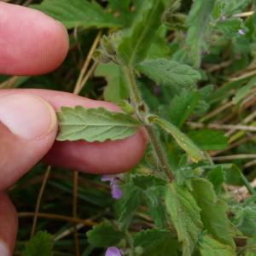
<path fill-rule="evenodd" d="M 0 73 L 48 73 L 65 59 L 67 31 L 38 10 L 0 3 Z"/>

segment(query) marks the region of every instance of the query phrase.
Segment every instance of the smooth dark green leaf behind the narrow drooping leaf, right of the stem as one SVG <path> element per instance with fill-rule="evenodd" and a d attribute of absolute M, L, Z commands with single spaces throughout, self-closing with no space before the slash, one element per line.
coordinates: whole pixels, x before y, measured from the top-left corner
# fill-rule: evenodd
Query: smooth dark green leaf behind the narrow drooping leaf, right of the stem
<path fill-rule="evenodd" d="M 201 150 L 222 150 L 229 146 L 229 138 L 223 131 L 201 129 L 189 131 L 188 136 Z"/>

